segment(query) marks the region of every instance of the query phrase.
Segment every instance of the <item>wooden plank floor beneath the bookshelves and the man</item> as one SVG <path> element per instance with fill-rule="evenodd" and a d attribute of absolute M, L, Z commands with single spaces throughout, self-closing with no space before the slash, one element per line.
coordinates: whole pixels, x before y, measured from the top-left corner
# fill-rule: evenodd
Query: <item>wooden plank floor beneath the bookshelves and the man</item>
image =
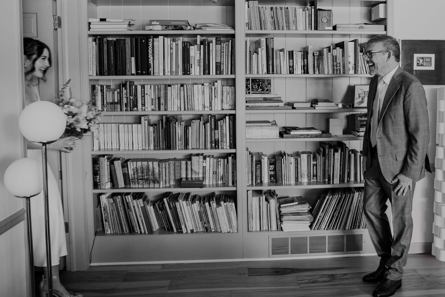
<path fill-rule="evenodd" d="M 85 297 L 364 297 L 376 285 L 361 279 L 377 266 L 377 256 L 113 265 L 61 271 L 61 281 Z M 445 262 L 409 255 L 394 296 L 444 297 Z"/>

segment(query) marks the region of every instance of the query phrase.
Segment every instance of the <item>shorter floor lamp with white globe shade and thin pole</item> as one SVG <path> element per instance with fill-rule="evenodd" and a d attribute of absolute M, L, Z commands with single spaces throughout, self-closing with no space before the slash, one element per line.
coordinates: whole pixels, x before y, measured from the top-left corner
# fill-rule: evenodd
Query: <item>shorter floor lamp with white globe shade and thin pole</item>
<path fill-rule="evenodd" d="M 32 226 L 30 198 L 43 190 L 42 163 L 36 159 L 23 158 L 11 163 L 4 172 L 4 185 L 12 195 L 26 199 L 26 221 L 28 224 L 29 271 L 31 274 L 31 296 L 34 290 L 34 251 L 32 248 Z"/>

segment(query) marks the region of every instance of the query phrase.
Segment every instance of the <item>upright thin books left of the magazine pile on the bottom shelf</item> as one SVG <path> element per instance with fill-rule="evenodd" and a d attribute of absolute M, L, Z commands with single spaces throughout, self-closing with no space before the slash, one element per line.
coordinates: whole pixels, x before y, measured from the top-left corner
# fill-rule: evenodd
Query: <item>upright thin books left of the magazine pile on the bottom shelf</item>
<path fill-rule="evenodd" d="M 247 231 L 281 230 L 275 191 L 247 191 Z"/>

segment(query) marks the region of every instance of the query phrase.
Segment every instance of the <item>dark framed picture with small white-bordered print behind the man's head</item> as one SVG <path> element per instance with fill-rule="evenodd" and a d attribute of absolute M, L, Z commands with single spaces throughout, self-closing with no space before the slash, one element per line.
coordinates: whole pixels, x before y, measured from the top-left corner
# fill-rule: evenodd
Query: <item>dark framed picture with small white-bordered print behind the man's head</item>
<path fill-rule="evenodd" d="M 401 39 L 400 66 L 422 85 L 445 85 L 445 40 Z"/>

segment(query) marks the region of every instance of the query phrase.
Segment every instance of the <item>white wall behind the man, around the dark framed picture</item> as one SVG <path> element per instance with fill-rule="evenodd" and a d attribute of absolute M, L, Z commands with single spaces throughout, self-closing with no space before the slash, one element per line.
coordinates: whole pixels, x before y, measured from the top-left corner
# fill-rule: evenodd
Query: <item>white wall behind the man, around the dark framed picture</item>
<path fill-rule="evenodd" d="M 444 0 L 393 0 L 393 37 L 398 39 L 445 39 Z M 444 69 L 445 71 L 445 69 Z M 425 86 L 428 99 L 430 142 L 429 157 L 434 163 L 436 147 L 436 100 L 438 86 Z M 434 172 L 416 184 L 413 201 L 412 244 L 433 241 Z M 431 246 L 429 246 L 431 249 Z"/>

